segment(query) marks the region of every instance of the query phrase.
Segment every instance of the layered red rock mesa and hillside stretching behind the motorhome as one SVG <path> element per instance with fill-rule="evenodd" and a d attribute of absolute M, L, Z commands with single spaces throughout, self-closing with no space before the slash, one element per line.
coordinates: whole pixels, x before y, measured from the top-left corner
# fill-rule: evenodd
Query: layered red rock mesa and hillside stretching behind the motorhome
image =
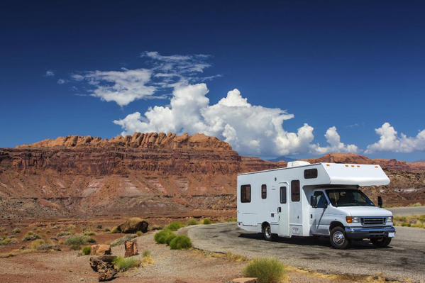
<path fill-rule="evenodd" d="M 425 202 L 424 164 L 338 153 L 309 161 L 380 164 L 392 182 L 372 196 Z M 202 134 L 43 140 L 0 149 L 0 217 L 233 215 L 238 172 L 285 165 L 242 157 Z"/>

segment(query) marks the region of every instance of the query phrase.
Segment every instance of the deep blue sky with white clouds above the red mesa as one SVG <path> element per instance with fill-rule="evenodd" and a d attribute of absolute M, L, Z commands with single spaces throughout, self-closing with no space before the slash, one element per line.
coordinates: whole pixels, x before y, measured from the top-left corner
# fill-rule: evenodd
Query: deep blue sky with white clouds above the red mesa
<path fill-rule="evenodd" d="M 424 160 L 424 14 L 421 1 L 2 2 L 0 147 L 63 135 L 111 138 L 131 127 L 148 131 L 159 122 L 145 113 L 164 106 L 175 123 L 165 119 L 165 129 L 202 129 L 247 155 L 307 157 L 354 145 L 370 157 Z M 146 51 L 161 57 L 140 56 Z M 183 79 L 178 86 L 148 79 L 153 94 L 126 105 L 93 96 L 117 82 L 105 80 L 107 72 L 155 76 L 172 55 L 189 58 L 170 71 Z M 186 72 L 183 61 L 208 67 Z M 192 90 L 201 101 L 207 97 L 206 104 L 173 110 L 173 91 L 192 95 L 184 87 L 202 83 Z M 228 96 L 233 89 L 239 94 Z M 255 117 L 247 116 L 244 99 Z M 189 118 L 179 116 L 192 110 Z M 136 124 L 114 123 L 137 112 Z M 223 117 L 219 124 L 214 115 Z M 283 133 L 270 122 L 282 116 Z M 253 125 L 258 117 L 265 118 Z M 192 118 L 198 128 L 185 122 Z"/>

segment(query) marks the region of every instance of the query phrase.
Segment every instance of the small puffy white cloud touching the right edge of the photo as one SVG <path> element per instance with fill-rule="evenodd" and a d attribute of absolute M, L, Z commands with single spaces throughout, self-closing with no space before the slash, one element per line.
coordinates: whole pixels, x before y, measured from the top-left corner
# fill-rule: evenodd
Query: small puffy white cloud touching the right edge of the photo
<path fill-rule="evenodd" d="M 380 140 L 368 145 L 365 153 L 382 151 L 409 153 L 425 150 L 425 130 L 420 131 L 416 137 L 408 137 L 404 133 L 398 135 L 394 127 L 387 122 L 376 128 L 375 133 L 380 136 Z"/>

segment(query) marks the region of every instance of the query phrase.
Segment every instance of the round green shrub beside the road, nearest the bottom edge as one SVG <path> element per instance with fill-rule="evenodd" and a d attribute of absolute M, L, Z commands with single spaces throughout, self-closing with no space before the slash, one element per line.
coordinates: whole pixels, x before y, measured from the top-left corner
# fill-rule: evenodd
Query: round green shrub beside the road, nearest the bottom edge
<path fill-rule="evenodd" d="M 259 283 L 280 283 L 285 273 L 285 266 L 275 258 L 252 260 L 243 270 L 243 276 L 257 277 Z"/>

